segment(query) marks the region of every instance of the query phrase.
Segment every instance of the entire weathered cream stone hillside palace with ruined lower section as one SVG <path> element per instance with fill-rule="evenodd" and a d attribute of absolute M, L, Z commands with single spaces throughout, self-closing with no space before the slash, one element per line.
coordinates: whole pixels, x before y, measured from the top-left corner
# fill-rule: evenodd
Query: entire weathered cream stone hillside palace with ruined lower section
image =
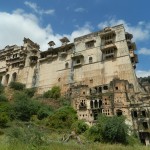
<path fill-rule="evenodd" d="M 38 93 L 58 85 L 72 98 L 79 119 L 92 125 L 99 113 L 124 115 L 148 143 L 149 87 L 145 90 L 136 77 L 138 57 L 132 38 L 122 24 L 77 37 L 72 43 L 64 37 L 56 48 L 50 41 L 46 51 L 24 38 L 23 46 L 0 51 L 0 82 L 7 86 L 18 81 L 27 88 L 37 87 Z"/>

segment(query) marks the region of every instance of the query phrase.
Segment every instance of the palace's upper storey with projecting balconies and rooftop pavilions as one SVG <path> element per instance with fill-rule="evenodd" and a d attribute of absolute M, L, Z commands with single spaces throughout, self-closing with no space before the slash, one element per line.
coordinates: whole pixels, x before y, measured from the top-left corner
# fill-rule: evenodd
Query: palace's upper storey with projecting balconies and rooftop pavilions
<path fill-rule="evenodd" d="M 135 68 L 138 58 L 134 53 L 136 45 L 132 37 L 132 34 L 125 32 L 123 25 L 117 25 L 75 38 L 73 43 L 63 37 L 60 39 L 62 45 L 56 48 L 53 47 L 55 43 L 50 41 L 46 51 L 40 51 L 37 43 L 24 38 L 23 46 L 6 46 L 0 51 L 0 72 L 14 67 L 34 66 L 38 62 L 44 63 L 56 58 L 70 58 L 74 66 L 81 66 L 88 61 L 110 61 L 125 55 L 129 55 Z"/>

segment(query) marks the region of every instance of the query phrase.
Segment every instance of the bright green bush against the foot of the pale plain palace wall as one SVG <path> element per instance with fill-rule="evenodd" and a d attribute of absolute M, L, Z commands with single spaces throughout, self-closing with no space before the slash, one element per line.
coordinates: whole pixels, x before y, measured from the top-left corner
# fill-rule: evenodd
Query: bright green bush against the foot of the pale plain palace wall
<path fill-rule="evenodd" d="M 59 86 L 54 86 L 54 87 L 52 87 L 51 90 L 48 90 L 47 92 L 44 92 L 43 97 L 58 99 L 61 95 L 60 91 L 61 90 L 60 90 Z"/>

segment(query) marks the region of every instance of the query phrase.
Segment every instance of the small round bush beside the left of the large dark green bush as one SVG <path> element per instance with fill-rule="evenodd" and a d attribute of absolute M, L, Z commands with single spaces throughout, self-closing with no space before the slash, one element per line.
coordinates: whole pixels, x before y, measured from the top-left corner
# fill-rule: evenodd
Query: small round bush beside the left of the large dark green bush
<path fill-rule="evenodd" d="M 77 134 L 81 134 L 88 129 L 88 125 L 83 120 L 78 120 L 72 124 L 71 129 L 75 130 Z"/>

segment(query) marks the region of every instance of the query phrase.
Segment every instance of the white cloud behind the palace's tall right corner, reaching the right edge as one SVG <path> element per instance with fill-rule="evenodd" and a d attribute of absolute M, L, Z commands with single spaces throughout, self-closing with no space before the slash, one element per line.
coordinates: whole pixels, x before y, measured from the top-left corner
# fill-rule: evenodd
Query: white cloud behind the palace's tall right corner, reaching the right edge
<path fill-rule="evenodd" d="M 100 29 L 103 29 L 107 26 L 115 26 L 118 24 L 124 24 L 125 30 L 133 34 L 133 39 L 135 41 L 143 41 L 143 40 L 147 40 L 150 38 L 150 24 L 145 23 L 144 21 L 140 21 L 138 22 L 137 25 L 132 26 L 122 19 L 120 20 L 110 19 L 108 21 L 99 23 L 98 27 Z"/>

